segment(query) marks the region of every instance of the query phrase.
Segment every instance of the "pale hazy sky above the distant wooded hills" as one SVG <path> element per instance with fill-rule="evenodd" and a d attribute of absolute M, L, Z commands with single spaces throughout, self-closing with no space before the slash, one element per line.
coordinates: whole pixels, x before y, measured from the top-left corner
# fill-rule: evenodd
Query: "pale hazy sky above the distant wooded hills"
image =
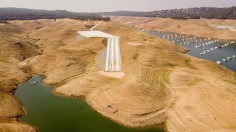
<path fill-rule="evenodd" d="M 0 0 L 0 7 L 65 9 L 74 12 L 153 11 L 189 7 L 231 7 L 236 0 Z"/>

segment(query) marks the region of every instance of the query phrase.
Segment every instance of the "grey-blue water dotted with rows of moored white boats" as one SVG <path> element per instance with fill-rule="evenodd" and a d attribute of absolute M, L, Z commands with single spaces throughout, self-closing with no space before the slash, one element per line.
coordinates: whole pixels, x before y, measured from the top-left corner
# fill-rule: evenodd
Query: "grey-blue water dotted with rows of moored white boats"
<path fill-rule="evenodd" d="M 216 38 L 200 38 L 171 32 L 144 30 L 149 34 L 169 40 L 176 45 L 183 46 L 190 51 L 189 55 L 207 59 L 236 72 L 236 43 L 235 40 L 218 40 Z M 202 53 L 202 54 L 201 54 Z M 230 57 L 227 59 L 227 57 Z"/>

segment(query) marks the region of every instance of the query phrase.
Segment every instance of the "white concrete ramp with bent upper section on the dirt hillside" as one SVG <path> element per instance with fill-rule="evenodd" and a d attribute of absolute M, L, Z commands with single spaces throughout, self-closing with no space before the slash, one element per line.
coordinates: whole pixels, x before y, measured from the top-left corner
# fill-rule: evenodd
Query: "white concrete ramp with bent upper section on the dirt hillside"
<path fill-rule="evenodd" d="M 120 54 L 120 38 L 101 31 L 78 31 L 84 37 L 102 37 L 107 38 L 107 53 L 106 53 L 106 72 L 121 71 L 121 54 Z"/>

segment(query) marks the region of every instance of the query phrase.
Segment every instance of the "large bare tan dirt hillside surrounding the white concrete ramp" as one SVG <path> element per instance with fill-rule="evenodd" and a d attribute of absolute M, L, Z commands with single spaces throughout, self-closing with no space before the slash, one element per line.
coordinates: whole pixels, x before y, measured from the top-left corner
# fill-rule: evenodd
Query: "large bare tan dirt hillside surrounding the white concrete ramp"
<path fill-rule="evenodd" d="M 56 22 L 13 21 L 11 24 L 13 29 L 21 29 L 21 32 L 12 31 L 12 36 L 31 40 L 38 47 L 32 52 L 40 51 L 40 54 L 35 57 L 32 54 L 24 61 L 14 56 L 10 57 L 12 63 L 0 61 L 0 66 L 6 69 L 0 73 L 5 76 L 0 81 L 4 94 L 14 91 L 13 85 L 5 87 L 8 86 L 5 80 L 13 78 L 9 84 L 18 84 L 37 73 L 45 75 L 46 84 L 57 86 L 57 94 L 84 98 L 99 113 L 126 126 L 164 124 L 166 130 L 174 132 L 234 131 L 236 128 L 235 73 L 185 55 L 186 50 L 181 47 L 114 22 L 102 23 L 99 30 L 121 37 L 125 76 L 115 79 L 99 74 L 101 69 L 95 58 L 105 48 L 104 39 L 76 42 L 76 31 L 86 30 L 86 25 L 93 22 L 64 19 Z M 130 43 L 143 45 L 132 46 Z M 9 54 L 5 51 L 4 55 Z M 12 69 L 17 74 L 13 74 Z M 5 102 L 12 109 L 19 105 L 11 100 Z M 6 103 L 0 100 L 0 104 Z M 21 112 L 8 114 L 19 115 Z M 4 120 L 0 130 L 8 130 L 5 123 L 14 127 L 14 123 L 8 122 Z"/>

